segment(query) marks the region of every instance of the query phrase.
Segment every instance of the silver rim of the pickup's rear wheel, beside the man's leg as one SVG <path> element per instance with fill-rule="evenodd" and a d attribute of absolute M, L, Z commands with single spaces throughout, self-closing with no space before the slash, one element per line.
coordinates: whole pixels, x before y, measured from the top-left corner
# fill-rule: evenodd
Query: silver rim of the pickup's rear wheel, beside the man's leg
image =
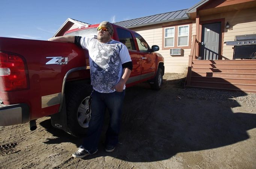
<path fill-rule="evenodd" d="M 89 127 L 89 121 L 90 121 L 90 114 L 91 111 L 89 111 L 89 96 L 83 99 L 83 101 L 80 103 L 78 110 L 77 110 L 77 122 L 81 127 Z"/>

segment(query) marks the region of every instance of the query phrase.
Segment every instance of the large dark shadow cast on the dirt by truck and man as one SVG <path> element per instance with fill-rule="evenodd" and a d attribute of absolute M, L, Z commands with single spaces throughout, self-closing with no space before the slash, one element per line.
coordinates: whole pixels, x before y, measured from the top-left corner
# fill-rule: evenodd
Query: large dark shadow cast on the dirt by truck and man
<path fill-rule="evenodd" d="M 247 130 L 256 127 L 256 114 L 233 113 L 232 108 L 240 105 L 230 99 L 246 93 L 230 92 L 221 100 L 202 99 L 200 95 L 190 98 L 185 94 L 180 99 L 178 96 L 187 90 L 180 87 L 182 84 L 182 80 L 165 80 L 159 91 L 151 90 L 147 84 L 126 89 L 116 150 L 106 153 L 99 144 L 99 153 L 85 159 L 112 156 L 129 162 L 154 162 L 180 152 L 218 148 L 249 138 Z M 52 128 L 50 120 L 40 124 L 58 137 L 47 144 L 73 142 L 78 147 L 81 143 L 81 139 Z M 101 142 L 106 129 L 107 122 Z"/>

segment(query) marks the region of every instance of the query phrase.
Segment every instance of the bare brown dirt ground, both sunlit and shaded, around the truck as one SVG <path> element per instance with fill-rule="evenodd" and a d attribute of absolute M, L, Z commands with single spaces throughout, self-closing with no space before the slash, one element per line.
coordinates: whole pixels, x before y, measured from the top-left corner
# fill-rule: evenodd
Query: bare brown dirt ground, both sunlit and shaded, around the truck
<path fill-rule="evenodd" d="M 126 89 L 119 144 L 75 159 L 82 139 L 51 127 L 50 117 L 0 127 L 0 168 L 256 168 L 255 100 L 243 92 L 186 88 L 182 74 L 164 75 L 163 87 Z M 245 98 L 247 99 L 247 98 Z M 6 145 L 8 144 L 8 145 Z M 2 147 L 1 147 L 2 145 Z"/>

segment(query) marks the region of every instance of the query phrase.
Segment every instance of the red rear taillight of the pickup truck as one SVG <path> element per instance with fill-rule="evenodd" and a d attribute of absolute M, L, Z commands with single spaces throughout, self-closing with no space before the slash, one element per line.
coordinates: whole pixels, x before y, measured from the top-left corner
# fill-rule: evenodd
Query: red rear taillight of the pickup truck
<path fill-rule="evenodd" d="M 21 56 L 0 52 L 0 91 L 27 89 L 27 68 Z"/>

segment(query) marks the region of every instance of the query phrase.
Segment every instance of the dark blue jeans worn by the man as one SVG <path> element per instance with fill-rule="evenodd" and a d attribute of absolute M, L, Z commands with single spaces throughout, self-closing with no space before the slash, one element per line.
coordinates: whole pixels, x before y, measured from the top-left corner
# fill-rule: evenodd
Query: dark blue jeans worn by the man
<path fill-rule="evenodd" d="M 89 129 L 83 141 L 83 147 L 94 153 L 98 147 L 106 108 L 110 113 L 110 122 L 106 132 L 106 145 L 116 145 L 121 125 L 121 114 L 125 90 L 123 92 L 92 93 L 91 119 Z"/>

